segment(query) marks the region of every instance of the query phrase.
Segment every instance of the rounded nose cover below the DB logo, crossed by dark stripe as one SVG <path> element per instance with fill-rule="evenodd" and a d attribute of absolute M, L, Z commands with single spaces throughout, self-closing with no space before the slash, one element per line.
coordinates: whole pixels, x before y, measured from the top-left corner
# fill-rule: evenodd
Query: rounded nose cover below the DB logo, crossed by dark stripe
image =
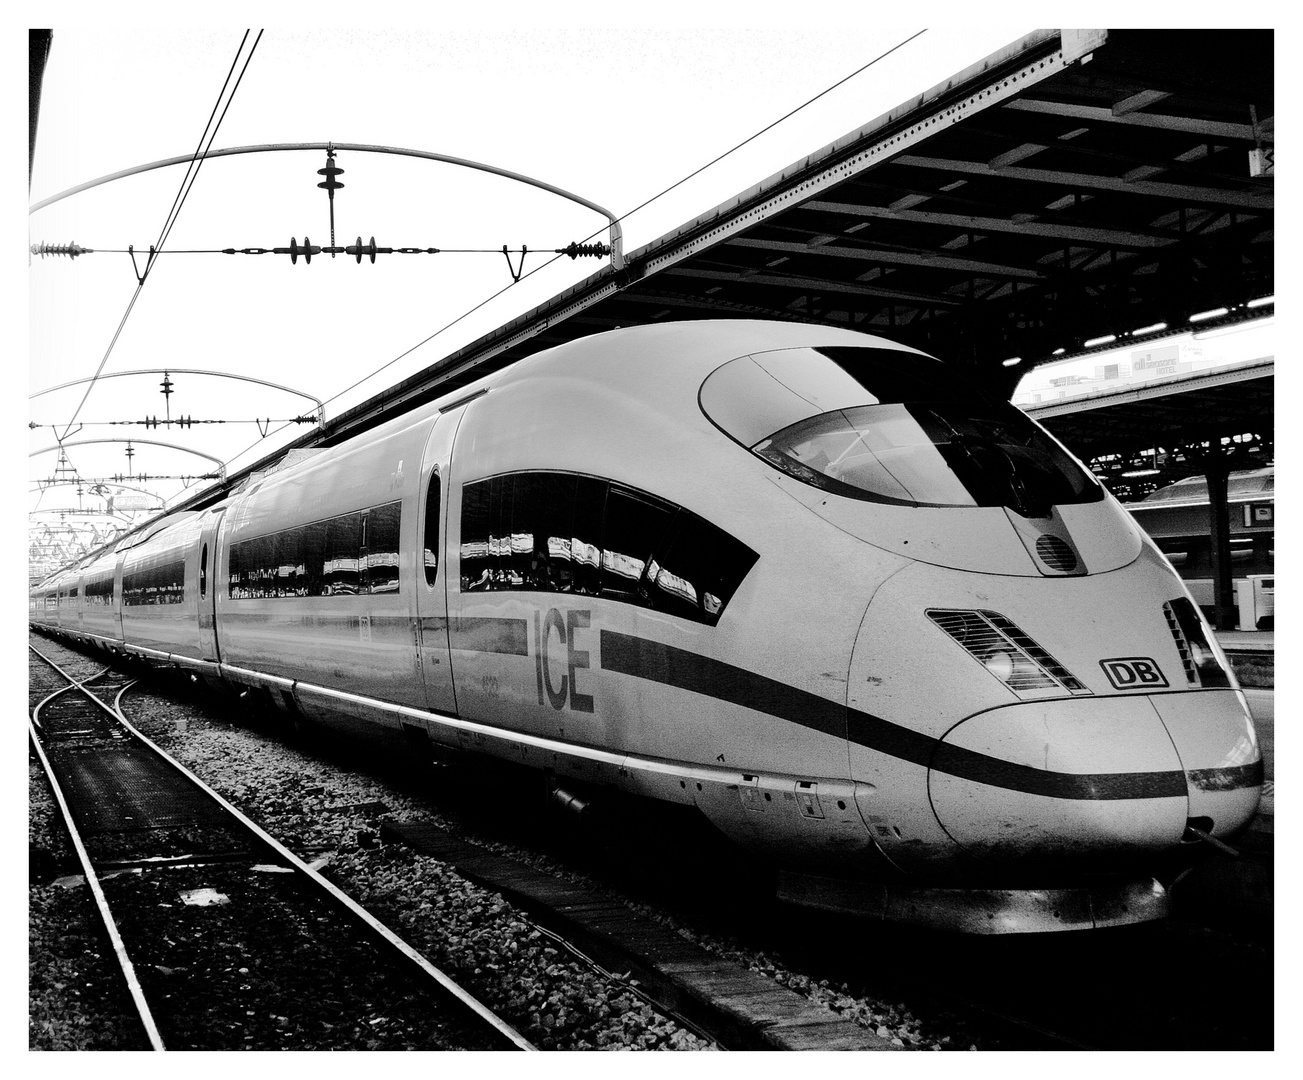
<path fill-rule="evenodd" d="M 1140 696 L 969 717 L 941 740 L 928 791 L 960 847 L 1005 864 L 1166 848 L 1188 817 L 1181 758 Z"/>

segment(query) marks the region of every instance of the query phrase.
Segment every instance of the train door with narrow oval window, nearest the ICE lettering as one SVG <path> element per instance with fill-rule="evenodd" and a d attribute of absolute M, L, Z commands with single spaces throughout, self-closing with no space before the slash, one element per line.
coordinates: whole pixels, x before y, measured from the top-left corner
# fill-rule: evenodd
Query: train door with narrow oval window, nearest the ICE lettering
<path fill-rule="evenodd" d="M 440 413 L 425 446 L 418 517 L 421 565 L 417 567 L 416 581 L 417 661 L 425 683 L 426 707 L 451 715 L 456 715 L 457 700 L 452 688 L 452 654 L 448 649 L 448 478 L 452 439 L 461 414 L 460 406 Z"/>

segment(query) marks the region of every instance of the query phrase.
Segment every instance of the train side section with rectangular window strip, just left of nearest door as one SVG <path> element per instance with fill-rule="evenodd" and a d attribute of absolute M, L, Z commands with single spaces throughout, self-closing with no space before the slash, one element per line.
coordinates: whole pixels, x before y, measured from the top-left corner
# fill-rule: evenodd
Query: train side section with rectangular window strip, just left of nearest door
<path fill-rule="evenodd" d="M 423 706 L 410 598 L 429 419 L 268 473 L 231 503 L 216 582 L 222 661 L 302 683 L 300 703 L 331 720 L 335 688 Z M 379 720 L 351 709 L 349 722 Z"/>

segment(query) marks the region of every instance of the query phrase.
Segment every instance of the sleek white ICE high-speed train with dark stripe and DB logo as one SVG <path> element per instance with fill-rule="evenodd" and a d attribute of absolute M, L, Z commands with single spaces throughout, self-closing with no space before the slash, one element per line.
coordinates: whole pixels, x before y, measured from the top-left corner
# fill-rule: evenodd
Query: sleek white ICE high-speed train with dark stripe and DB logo
<path fill-rule="evenodd" d="M 696 806 L 783 898 L 926 926 L 1161 917 L 1158 868 L 1256 810 L 1243 694 L 1162 554 L 917 350 L 618 330 L 292 457 L 44 582 L 33 623 Z"/>

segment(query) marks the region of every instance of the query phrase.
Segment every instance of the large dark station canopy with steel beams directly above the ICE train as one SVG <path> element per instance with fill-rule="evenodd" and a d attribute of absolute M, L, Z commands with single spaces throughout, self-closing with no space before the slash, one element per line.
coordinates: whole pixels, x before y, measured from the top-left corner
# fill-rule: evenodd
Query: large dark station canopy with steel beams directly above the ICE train
<path fill-rule="evenodd" d="M 1270 30 L 1032 33 L 301 446 L 642 323 L 843 326 L 1007 396 L 1102 335 L 1148 328 L 1149 343 L 1222 307 L 1200 326 L 1270 314 L 1248 305 L 1274 293 L 1273 70 Z"/>

